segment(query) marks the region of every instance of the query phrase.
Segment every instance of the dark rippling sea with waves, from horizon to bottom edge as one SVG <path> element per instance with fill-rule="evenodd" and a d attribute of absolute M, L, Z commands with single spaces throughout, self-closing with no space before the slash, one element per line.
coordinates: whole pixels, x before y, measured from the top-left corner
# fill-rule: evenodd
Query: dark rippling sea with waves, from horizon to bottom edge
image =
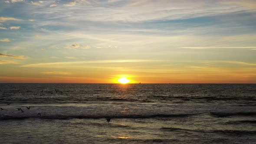
<path fill-rule="evenodd" d="M 0 107 L 3 144 L 256 143 L 255 84 L 0 84 Z"/>

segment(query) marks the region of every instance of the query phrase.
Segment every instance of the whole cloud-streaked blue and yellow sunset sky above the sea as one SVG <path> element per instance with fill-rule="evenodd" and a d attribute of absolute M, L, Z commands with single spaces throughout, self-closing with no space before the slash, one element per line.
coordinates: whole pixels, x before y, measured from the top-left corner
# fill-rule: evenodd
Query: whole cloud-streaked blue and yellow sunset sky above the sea
<path fill-rule="evenodd" d="M 256 83 L 256 0 L 0 0 L 0 83 Z"/>

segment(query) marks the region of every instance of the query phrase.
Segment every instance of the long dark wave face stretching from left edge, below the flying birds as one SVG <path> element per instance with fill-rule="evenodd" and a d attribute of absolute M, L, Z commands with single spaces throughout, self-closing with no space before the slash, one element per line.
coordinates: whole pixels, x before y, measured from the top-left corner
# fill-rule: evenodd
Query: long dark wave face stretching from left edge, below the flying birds
<path fill-rule="evenodd" d="M 15 119 L 26 119 L 26 118 L 42 118 L 42 119 L 70 119 L 70 118 L 157 118 L 157 117 L 188 117 L 193 114 L 173 114 L 173 115 L 165 115 L 165 114 L 157 114 L 157 115 L 46 115 L 46 116 L 1 116 L 0 120 L 15 120 Z"/>

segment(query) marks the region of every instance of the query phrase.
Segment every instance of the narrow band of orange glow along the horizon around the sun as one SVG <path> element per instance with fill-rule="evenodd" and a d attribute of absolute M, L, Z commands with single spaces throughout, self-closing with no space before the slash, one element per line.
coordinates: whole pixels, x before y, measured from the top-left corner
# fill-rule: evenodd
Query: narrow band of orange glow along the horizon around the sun
<path fill-rule="evenodd" d="M 40 75 L 42 76 L 42 75 Z M 256 74 L 243 73 L 220 73 L 198 75 L 193 73 L 170 74 L 170 75 L 95 75 L 82 77 L 70 76 L 47 76 L 47 77 L 12 77 L 0 76 L 0 83 L 118 83 L 119 79 L 126 78 L 132 83 L 255 83 Z M 240 78 L 240 79 L 237 79 Z"/>

